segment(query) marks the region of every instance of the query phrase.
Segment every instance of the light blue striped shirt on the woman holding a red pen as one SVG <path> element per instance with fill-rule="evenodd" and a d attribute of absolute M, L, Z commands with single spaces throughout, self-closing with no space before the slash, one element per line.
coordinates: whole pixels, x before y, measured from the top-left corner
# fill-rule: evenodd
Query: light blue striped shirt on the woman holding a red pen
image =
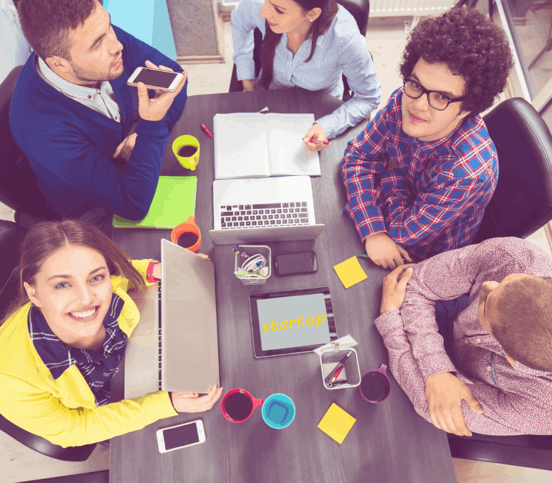
<path fill-rule="evenodd" d="M 232 11 L 233 59 L 238 80 L 255 79 L 253 30 L 259 28 L 265 34 L 265 21 L 260 17 L 263 4 L 262 0 L 242 0 Z M 382 87 L 366 48 L 366 39 L 344 7 L 339 6 L 331 26 L 317 38 L 313 58 L 308 62 L 312 39 L 306 39 L 295 55 L 288 50 L 286 39 L 284 33 L 276 47 L 270 89 L 300 87 L 342 99 L 343 73 L 355 92 L 352 99 L 330 115 L 317 119 L 328 139 L 358 124 L 380 103 Z"/>

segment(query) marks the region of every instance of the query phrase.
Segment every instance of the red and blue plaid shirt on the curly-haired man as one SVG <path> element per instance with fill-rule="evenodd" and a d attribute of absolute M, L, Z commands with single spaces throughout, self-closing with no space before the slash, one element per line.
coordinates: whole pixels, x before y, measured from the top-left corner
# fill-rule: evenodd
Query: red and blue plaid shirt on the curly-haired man
<path fill-rule="evenodd" d="M 356 139 L 342 164 L 344 211 L 362 239 L 387 233 L 420 259 L 473 242 L 498 177 L 495 146 L 480 116 L 448 135 L 420 141 L 402 130 L 395 90 Z"/>

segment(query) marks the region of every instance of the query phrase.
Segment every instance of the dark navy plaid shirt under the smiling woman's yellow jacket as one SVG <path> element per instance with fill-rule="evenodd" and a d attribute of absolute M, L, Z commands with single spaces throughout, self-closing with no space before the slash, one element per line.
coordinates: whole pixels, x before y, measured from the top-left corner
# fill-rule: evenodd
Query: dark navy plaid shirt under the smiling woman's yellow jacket
<path fill-rule="evenodd" d="M 94 393 L 97 406 L 110 402 L 109 384 L 106 383 L 119 371 L 119 361 L 124 356 L 128 342 L 127 335 L 121 331 L 117 322 L 123 306 L 124 300 L 113 293 L 110 308 L 103 319 L 106 340 L 103 341 L 101 354 L 61 342 L 37 306 L 31 306 L 27 317 L 30 339 L 52 377 L 57 379 L 70 366 L 77 364 L 90 391 Z"/>

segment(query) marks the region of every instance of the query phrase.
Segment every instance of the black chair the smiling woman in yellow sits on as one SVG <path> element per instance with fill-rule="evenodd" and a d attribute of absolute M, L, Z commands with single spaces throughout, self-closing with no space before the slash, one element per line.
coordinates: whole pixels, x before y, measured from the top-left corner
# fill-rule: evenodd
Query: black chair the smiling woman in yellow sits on
<path fill-rule="evenodd" d="M 19 286 L 19 247 L 27 230 L 13 221 L 0 220 L 0 280 L 6 281 L 0 290 L 0 317 L 6 313 L 8 305 L 17 296 Z M 0 415 L 0 431 L 10 435 L 34 451 L 63 461 L 85 461 L 94 451 L 96 444 L 62 448 L 41 436 L 34 435 L 16 426 Z"/>

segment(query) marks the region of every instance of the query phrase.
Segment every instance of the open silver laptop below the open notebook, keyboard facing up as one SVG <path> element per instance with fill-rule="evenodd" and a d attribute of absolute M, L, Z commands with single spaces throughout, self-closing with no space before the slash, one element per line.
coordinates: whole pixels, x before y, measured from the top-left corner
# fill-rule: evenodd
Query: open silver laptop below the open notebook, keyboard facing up
<path fill-rule="evenodd" d="M 314 239 L 317 225 L 309 176 L 216 179 L 213 182 L 215 244 Z"/>

